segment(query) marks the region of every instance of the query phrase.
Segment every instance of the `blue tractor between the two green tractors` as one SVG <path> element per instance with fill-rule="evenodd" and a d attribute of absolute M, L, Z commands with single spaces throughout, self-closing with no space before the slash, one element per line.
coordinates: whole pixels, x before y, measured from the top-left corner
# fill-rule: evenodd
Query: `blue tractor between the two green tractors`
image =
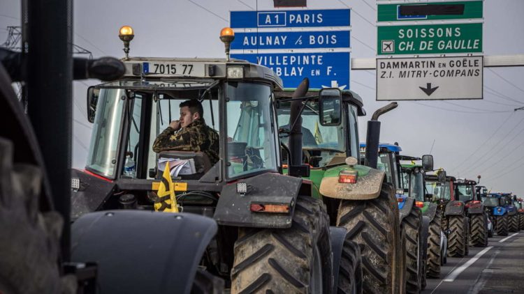
<path fill-rule="evenodd" d="M 360 146 L 361 153 L 365 153 L 366 145 L 361 143 Z M 377 168 L 386 173 L 386 180 L 395 188 L 400 224 L 406 235 L 406 292 L 419 293 L 426 286 L 430 218 L 423 217 L 421 211 L 423 203 L 416 200 L 415 194 L 419 191 L 410 189 L 411 187 L 407 182 L 402 181 L 400 160 L 406 160 L 407 157 L 399 155 L 400 151 L 402 151 L 402 148 L 396 143 L 379 144 Z M 423 158 L 423 170 L 432 170 L 432 156 L 424 155 Z M 411 160 L 412 157 L 409 157 L 409 159 Z M 421 158 L 417 160 L 421 160 Z"/>

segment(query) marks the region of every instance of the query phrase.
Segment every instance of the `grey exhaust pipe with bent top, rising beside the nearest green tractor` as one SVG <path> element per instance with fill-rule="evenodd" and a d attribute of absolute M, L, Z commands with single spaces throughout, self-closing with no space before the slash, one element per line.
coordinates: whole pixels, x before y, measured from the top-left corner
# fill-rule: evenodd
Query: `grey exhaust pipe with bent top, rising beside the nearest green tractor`
<path fill-rule="evenodd" d="M 377 168 L 377 158 L 379 157 L 380 141 L 380 122 L 379 116 L 398 107 L 397 102 L 377 109 L 371 116 L 371 121 L 367 121 L 367 134 L 365 138 L 365 165 L 373 169 Z"/>

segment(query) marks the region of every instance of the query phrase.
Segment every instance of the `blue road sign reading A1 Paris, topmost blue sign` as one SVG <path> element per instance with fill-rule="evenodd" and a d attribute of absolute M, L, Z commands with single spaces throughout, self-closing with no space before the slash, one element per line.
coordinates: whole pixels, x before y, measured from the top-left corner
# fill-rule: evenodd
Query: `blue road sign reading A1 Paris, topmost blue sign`
<path fill-rule="evenodd" d="M 349 26 L 350 9 L 231 11 L 231 27 L 298 28 L 319 26 Z"/>

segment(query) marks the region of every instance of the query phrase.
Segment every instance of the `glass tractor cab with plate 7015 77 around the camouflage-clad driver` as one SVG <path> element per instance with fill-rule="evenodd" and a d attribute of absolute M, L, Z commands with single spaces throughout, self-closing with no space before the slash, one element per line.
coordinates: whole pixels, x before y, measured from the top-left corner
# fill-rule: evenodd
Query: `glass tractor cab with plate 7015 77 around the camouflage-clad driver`
<path fill-rule="evenodd" d="M 274 107 L 282 80 L 275 72 L 229 57 L 126 54 L 122 61 L 124 77 L 87 91 L 92 141 L 85 169 L 72 171 L 73 219 L 95 210 L 152 210 L 166 162 L 183 194 L 179 204 L 204 215 L 212 215 L 224 185 L 282 172 Z M 155 139 L 180 119 L 187 100 L 201 102 L 203 122 L 217 134 L 216 158 L 190 146 L 154 152 Z"/>

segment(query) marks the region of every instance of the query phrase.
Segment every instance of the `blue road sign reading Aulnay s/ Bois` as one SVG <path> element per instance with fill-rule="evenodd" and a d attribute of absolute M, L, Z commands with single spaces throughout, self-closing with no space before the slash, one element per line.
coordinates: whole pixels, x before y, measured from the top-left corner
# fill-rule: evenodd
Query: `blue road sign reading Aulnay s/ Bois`
<path fill-rule="evenodd" d="M 235 33 L 231 49 L 349 48 L 349 31 Z"/>

